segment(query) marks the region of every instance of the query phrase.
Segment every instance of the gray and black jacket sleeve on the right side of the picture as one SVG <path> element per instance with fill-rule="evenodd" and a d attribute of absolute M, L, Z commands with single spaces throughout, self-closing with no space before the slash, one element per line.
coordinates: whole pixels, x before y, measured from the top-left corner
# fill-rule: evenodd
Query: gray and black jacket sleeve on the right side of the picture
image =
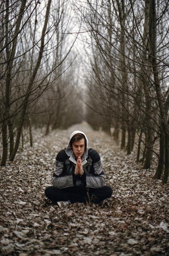
<path fill-rule="evenodd" d="M 92 159 L 93 174 L 86 175 L 86 187 L 89 188 L 100 188 L 105 185 L 105 175 L 101 168 L 100 155 L 96 150 L 91 150 L 89 156 Z"/>

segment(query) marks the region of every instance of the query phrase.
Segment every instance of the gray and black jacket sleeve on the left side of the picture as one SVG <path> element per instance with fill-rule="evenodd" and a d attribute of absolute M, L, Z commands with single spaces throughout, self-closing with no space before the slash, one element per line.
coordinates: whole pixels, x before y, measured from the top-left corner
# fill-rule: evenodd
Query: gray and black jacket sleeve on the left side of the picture
<path fill-rule="evenodd" d="M 64 162 L 67 158 L 65 150 L 61 150 L 56 156 L 56 168 L 53 174 L 53 186 L 55 188 L 67 188 L 74 186 L 72 174 L 66 175 Z"/>

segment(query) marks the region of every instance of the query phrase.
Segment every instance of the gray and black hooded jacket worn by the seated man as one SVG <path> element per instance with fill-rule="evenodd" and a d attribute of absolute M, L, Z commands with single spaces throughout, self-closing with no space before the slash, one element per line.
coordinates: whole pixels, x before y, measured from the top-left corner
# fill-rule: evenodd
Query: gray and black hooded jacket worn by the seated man
<path fill-rule="evenodd" d="M 77 134 L 84 134 L 82 131 L 74 131 L 71 138 Z M 101 160 L 98 152 L 88 147 L 88 138 L 86 138 L 86 150 L 81 157 L 84 174 L 75 175 L 76 160 L 74 153 L 69 145 L 61 150 L 56 156 L 56 169 L 53 174 L 53 186 L 56 188 L 67 188 L 73 186 L 85 186 L 89 188 L 100 188 L 105 185 L 104 171 L 101 168 Z"/>

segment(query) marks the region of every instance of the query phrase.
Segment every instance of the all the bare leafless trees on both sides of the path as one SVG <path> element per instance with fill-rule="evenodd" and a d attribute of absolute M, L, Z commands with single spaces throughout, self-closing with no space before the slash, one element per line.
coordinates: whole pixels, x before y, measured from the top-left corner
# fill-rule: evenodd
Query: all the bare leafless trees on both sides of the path
<path fill-rule="evenodd" d="M 163 174 L 166 183 L 168 4 L 169 0 L 2 1 L 1 165 L 8 156 L 14 160 L 24 128 L 31 123 L 46 126 L 48 134 L 50 128 L 65 129 L 82 120 L 83 104 L 72 90 L 75 76 L 80 77 L 74 44 L 82 28 L 80 32 L 88 31 L 89 59 L 86 54 L 82 59 L 86 90 L 78 97 L 87 105 L 86 120 L 109 134 L 113 128 L 127 154 L 137 145 L 136 159 L 145 169 L 155 154 L 155 177 Z M 75 17 L 79 22 L 74 25 Z"/>

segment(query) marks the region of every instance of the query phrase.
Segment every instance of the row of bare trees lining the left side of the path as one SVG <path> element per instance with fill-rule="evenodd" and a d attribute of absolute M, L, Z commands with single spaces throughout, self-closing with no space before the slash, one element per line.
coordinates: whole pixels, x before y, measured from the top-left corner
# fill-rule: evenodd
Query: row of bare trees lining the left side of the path
<path fill-rule="evenodd" d="M 46 134 L 51 124 L 66 128 L 76 122 L 69 117 L 74 102 L 69 70 L 75 58 L 69 53 L 77 39 L 68 35 L 71 12 L 65 0 L 0 3 L 1 166 L 8 156 L 14 160 L 30 119 L 46 125 Z"/>

